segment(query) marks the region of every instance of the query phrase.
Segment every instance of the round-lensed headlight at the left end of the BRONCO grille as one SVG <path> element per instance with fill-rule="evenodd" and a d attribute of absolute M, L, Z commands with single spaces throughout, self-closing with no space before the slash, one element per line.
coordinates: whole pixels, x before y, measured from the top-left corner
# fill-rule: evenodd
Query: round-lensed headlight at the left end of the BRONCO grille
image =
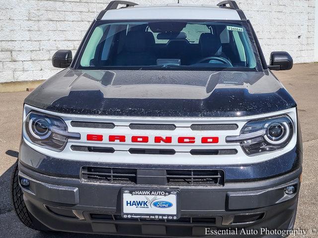
<path fill-rule="evenodd" d="M 63 119 L 34 111 L 26 116 L 24 129 L 32 143 L 54 151 L 62 151 L 68 139 L 80 139 L 79 133 L 68 132 Z"/>

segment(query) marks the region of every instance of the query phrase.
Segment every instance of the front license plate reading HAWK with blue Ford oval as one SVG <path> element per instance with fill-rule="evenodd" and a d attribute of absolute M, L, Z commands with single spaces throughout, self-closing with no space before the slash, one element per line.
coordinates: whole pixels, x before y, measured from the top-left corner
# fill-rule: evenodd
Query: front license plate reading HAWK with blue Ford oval
<path fill-rule="evenodd" d="M 122 217 L 176 220 L 179 190 L 122 189 Z"/>

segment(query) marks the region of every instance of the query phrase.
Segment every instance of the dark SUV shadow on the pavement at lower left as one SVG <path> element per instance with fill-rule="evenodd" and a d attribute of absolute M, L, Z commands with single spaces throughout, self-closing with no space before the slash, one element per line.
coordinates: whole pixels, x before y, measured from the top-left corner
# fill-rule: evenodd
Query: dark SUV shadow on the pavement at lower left
<path fill-rule="evenodd" d="M 19 153 L 7 150 L 5 154 L 18 158 Z M 11 175 L 15 165 L 12 165 L 0 176 L 0 233 L 5 238 L 127 238 L 123 236 L 91 235 L 66 232 L 38 232 L 24 226 L 17 218 L 11 204 Z M 12 226 L 14 224 L 14 226 Z M 0 234 L 0 237 L 1 235 Z"/>

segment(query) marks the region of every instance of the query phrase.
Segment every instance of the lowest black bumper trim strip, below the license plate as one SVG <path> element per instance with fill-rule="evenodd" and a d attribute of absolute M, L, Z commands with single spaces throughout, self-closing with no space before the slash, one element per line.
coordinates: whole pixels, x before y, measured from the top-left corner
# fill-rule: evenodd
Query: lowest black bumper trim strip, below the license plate
<path fill-rule="evenodd" d="M 246 223 L 232 223 L 223 224 L 229 216 L 226 212 L 219 212 L 214 216 L 197 215 L 197 219 L 202 222 L 191 223 L 191 217 L 181 217 L 180 220 L 175 222 L 165 221 L 138 221 L 138 220 L 125 220 L 125 219 L 102 219 L 102 217 L 94 217 L 89 212 L 83 212 L 83 220 L 79 218 L 70 218 L 43 209 L 43 204 L 34 200 L 32 197 L 27 197 L 26 205 L 32 215 L 39 221 L 43 222 L 50 229 L 55 231 L 76 232 L 76 233 L 92 233 L 92 234 L 109 234 L 109 235 L 128 235 L 128 236 L 144 236 L 144 237 L 197 237 L 206 235 L 206 229 L 209 230 L 229 230 L 233 231 L 238 229 L 244 230 L 257 230 L 266 227 L 268 230 L 287 230 L 290 228 L 291 221 L 297 208 L 297 199 L 276 204 L 270 207 L 257 209 L 262 210 L 265 214 L 260 219 L 253 222 Z M 72 209 L 72 208 L 70 208 Z M 235 214 L 230 216 L 242 216 L 242 211 L 236 211 Z M 261 212 L 259 212 L 260 214 Z M 257 214 L 257 212 L 255 213 Z M 101 215 L 100 215 L 101 216 Z M 109 215 L 108 215 L 109 216 Z M 120 217 L 117 215 L 110 215 Z M 251 217 L 251 216 L 250 216 Z M 204 222 L 207 221 L 207 222 Z M 238 220 L 236 220 L 238 221 Z M 221 236 L 224 237 L 224 236 Z M 246 236 L 234 236 L 236 238 Z M 261 238 L 265 236 L 255 236 L 254 238 Z"/>

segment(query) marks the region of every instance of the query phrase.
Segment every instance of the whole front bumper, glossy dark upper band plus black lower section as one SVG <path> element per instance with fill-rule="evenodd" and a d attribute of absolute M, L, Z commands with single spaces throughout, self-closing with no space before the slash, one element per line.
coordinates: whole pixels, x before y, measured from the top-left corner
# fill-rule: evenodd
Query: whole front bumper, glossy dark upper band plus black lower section
<path fill-rule="evenodd" d="M 22 141 L 19 176 L 30 180 L 28 187 L 21 186 L 28 210 L 52 230 L 193 237 L 205 235 L 205 228 L 228 231 L 236 228 L 257 231 L 261 228 L 292 229 L 300 189 L 301 162 L 302 153 L 295 147 L 291 152 L 267 162 L 240 166 L 121 164 L 121 167 L 138 167 L 139 170 L 171 167 L 173 170 L 219 169 L 225 172 L 222 186 L 176 187 L 156 184 L 155 179 L 150 179 L 148 185 L 123 185 L 86 181 L 80 176 L 82 166 L 116 167 L 118 164 L 56 159 L 36 152 Z M 288 185 L 294 185 L 296 193 L 285 194 L 284 188 Z M 179 189 L 181 218 L 176 221 L 122 219 L 120 191 L 124 187 Z M 268 236 L 258 233 L 254 237 Z"/>

